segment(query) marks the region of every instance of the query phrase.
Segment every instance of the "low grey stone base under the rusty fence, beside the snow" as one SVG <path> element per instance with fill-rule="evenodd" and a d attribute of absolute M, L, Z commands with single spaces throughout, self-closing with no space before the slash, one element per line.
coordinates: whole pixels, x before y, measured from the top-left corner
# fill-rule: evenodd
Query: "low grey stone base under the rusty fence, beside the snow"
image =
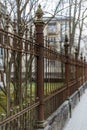
<path fill-rule="evenodd" d="M 68 120 L 72 117 L 72 111 L 80 101 L 85 92 L 87 82 L 84 83 L 69 99 L 67 99 L 48 119 L 47 125 L 38 130 L 62 130 Z"/>

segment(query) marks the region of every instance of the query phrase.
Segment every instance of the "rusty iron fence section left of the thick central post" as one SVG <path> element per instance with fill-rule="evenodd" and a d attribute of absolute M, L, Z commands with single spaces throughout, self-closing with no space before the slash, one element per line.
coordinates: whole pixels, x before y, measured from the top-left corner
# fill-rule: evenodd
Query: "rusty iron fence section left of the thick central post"
<path fill-rule="evenodd" d="M 35 42 L 0 29 L 0 130 L 32 129 L 37 120 Z"/>

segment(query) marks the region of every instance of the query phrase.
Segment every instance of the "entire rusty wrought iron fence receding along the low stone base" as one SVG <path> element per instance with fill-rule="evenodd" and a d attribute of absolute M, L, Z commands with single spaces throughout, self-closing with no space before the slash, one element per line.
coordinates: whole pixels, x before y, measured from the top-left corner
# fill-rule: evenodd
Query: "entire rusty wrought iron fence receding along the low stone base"
<path fill-rule="evenodd" d="M 87 80 L 87 63 L 60 54 L 43 39 L 44 22 L 35 22 L 36 37 L 0 29 L 0 130 L 36 130 Z"/>

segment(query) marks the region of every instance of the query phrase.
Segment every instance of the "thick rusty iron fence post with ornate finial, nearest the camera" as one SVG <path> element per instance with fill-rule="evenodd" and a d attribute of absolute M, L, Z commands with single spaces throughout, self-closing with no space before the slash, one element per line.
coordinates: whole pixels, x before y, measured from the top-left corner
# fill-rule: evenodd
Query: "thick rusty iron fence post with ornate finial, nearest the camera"
<path fill-rule="evenodd" d="M 38 51 L 37 56 L 37 97 L 40 102 L 38 107 L 38 121 L 36 124 L 37 128 L 44 128 L 44 22 L 42 20 L 43 11 L 41 6 L 38 6 L 36 11 L 36 20 L 35 20 L 35 33 L 36 33 L 36 51 Z"/>

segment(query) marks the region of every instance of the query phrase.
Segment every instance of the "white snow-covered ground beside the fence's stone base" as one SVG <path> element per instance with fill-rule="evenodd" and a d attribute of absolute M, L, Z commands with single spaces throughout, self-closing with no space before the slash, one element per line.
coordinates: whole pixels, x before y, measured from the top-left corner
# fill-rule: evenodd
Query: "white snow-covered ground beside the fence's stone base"
<path fill-rule="evenodd" d="M 82 95 L 63 130 L 87 130 L 87 90 Z"/>

